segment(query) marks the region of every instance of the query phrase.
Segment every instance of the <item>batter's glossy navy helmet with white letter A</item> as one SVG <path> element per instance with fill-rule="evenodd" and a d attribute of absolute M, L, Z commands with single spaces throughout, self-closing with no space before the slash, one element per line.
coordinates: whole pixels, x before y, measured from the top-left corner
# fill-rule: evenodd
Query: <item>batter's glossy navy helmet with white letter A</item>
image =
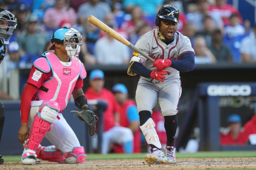
<path fill-rule="evenodd" d="M 180 17 L 180 12 L 178 8 L 176 8 L 173 5 L 166 4 L 162 6 L 160 10 L 157 12 L 155 25 L 156 26 L 160 25 L 160 18 L 172 20 L 174 22 L 179 23 L 179 17 Z"/>

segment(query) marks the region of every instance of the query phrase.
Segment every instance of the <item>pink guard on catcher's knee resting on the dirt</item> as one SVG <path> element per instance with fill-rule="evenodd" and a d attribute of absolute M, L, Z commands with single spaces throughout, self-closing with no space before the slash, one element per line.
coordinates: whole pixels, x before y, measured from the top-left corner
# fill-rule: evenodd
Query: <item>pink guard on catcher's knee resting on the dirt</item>
<path fill-rule="evenodd" d="M 84 152 L 84 147 L 78 146 L 73 148 L 73 151 L 67 153 L 65 161 L 68 164 L 83 163 L 85 158 L 86 154 Z"/>

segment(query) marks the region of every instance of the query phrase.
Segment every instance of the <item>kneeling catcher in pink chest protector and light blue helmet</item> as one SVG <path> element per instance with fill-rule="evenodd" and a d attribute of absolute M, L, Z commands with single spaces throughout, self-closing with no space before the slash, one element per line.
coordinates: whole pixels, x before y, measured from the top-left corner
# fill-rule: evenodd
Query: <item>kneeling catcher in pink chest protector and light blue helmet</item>
<path fill-rule="evenodd" d="M 32 66 L 21 97 L 19 141 L 24 145 L 21 162 L 34 165 L 38 159 L 58 163 L 83 163 L 86 155 L 62 115 L 73 95 L 79 119 L 87 121 L 94 135 L 97 117 L 89 109 L 84 96 L 86 70 L 78 59 L 81 34 L 73 28 L 60 28 L 51 37 L 54 53 L 44 52 Z M 29 130 L 30 128 L 30 130 Z M 41 146 L 43 137 L 53 145 Z"/>

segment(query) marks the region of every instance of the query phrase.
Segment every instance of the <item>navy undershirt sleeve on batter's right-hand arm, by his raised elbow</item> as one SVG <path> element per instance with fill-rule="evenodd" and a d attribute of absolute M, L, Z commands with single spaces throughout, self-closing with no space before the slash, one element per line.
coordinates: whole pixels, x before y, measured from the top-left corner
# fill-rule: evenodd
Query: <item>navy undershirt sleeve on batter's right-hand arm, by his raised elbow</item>
<path fill-rule="evenodd" d="M 182 54 L 180 60 L 172 60 L 171 67 L 180 72 L 192 71 L 195 68 L 195 55 L 192 52 Z"/>

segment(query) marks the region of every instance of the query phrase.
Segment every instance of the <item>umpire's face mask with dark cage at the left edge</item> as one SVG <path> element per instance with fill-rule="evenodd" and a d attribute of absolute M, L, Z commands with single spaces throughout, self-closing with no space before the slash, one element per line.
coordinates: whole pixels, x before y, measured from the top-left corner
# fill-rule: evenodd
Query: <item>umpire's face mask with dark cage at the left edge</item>
<path fill-rule="evenodd" d="M 12 12 L 0 8 L 0 37 L 3 44 L 9 44 L 9 39 L 16 26 L 17 19 Z"/>

